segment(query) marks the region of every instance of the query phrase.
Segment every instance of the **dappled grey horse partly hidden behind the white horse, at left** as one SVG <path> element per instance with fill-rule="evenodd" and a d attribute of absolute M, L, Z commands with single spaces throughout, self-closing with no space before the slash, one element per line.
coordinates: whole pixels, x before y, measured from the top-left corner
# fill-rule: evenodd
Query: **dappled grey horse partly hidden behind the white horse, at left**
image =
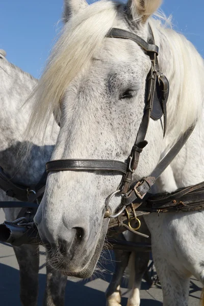
<path fill-rule="evenodd" d="M 49 131 L 45 135 L 45 143 L 39 146 L 40 139 L 32 146 L 29 155 L 18 154 L 23 142 L 24 130 L 28 124 L 32 109 L 32 100 L 22 108 L 31 90 L 37 83 L 29 73 L 9 63 L 6 53 L 0 54 L 0 166 L 11 178 L 12 182 L 25 186 L 36 185 L 50 159 L 58 136 L 58 125 L 52 119 Z M 0 189 L 0 200 L 11 201 L 13 198 Z M 4 209 L 6 220 L 17 218 L 20 209 Z M 23 306 L 36 306 L 38 297 L 39 246 L 14 246 L 20 269 L 20 298 Z M 50 269 L 47 265 L 47 283 L 44 305 L 63 305 L 67 276 Z"/>

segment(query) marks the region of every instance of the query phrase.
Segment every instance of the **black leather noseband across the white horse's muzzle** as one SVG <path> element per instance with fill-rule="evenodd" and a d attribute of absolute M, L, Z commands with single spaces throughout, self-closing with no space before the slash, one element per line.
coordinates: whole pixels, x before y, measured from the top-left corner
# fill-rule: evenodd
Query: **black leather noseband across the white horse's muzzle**
<path fill-rule="evenodd" d="M 68 170 L 86 170 L 86 171 L 117 171 L 123 174 L 127 172 L 127 164 L 114 160 L 84 160 L 67 159 L 55 160 L 46 163 L 47 172 L 50 171 L 68 171 Z"/>

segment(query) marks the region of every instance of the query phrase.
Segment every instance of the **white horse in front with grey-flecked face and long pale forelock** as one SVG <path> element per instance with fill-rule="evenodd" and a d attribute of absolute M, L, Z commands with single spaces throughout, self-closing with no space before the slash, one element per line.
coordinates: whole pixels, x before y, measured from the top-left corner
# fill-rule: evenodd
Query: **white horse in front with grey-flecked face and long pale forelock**
<path fill-rule="evenodd" d="M 150 121 L 133 179 L 148 176 L 160 157 L 196 123 L 186 145 L 161 175 L 157 192 L 172 192 L 204 180 L 204 65 L 182 35 L 149 18 L 160 0 L 129 0 L 127 6 L 100 1 L 66 0 L 67 22 L 36 90 L 28 131 L 41 135 L 55 112 L 61 129 L 52 159 L 125 161 L 143 116 L 145 81 L 150 60 L 131 40 L 107 38 L 112 27 L 147 41 L 149 27 L 160 48 L 161 71 L 170 83 L 167 132 Z M 28 132 L 28 134 L 30 134 Z M 49 244 L 50 263 L 67 275 L 93 273 L 108 228 L 105 199 L 120 176 L 100 171 L 56 171 L 48 175 L 35 217 L 40 236 Z M 111 211 L 119 206 L 111 202 Z M 165 306 L 188 304 L 189 277 L 204 284 L 203 212 L 145 217 Z M 136 305 L 132 301 L 131 305 Z"/>

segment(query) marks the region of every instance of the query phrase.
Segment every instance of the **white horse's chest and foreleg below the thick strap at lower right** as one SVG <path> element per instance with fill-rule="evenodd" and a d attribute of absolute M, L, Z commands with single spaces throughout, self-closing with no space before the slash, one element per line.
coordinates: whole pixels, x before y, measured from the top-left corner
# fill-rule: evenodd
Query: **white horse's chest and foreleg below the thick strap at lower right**
<path fill-rule="evenodd" d="M 164 306 L 187 306 L 190 276 L 204 283 L 203 212 L 145 217 Z"/>

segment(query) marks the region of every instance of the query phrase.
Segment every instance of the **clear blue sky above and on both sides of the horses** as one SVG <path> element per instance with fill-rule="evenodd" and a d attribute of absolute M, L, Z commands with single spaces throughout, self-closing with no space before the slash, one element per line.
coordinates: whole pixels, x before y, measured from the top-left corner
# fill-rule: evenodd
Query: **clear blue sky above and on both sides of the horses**
<path fill-rule="evenodd" d="M 63 0 L 1 0 L 0 48 L 7 59 L 38 78 L 59 33 L 62 7 Z M 162 9 L 204 57 L 203 0 L 164 0 Z"/>

